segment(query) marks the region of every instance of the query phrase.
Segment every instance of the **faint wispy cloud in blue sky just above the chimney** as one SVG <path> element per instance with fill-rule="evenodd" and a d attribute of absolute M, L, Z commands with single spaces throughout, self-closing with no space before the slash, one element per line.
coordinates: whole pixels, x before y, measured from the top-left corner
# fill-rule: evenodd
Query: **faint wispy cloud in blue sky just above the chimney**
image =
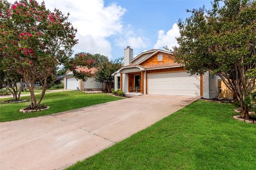
<path fill-rule="evenodd" d="M 138 31 L 139 32 L 139 31 Z M 131 25 L 127 25 L 126 29 L 122 32 L 123 36 L 115 39 L 115 43 L 119 47 L 130 46 L 131 48 L 147 48 L 147 39 L 143 36 L 139 36 L 132 30 Z"/>

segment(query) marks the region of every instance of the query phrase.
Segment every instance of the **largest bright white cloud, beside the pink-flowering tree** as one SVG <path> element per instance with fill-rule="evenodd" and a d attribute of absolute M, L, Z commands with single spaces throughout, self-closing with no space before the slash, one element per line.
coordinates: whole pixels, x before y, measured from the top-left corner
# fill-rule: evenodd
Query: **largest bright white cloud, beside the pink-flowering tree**
<path fill-rule="evenodd" d="M 107 38 L 123 29 L 125 8 L 113 3 L 105 6 L 103 0 L 44 0 L 51 11 L 56 7 L 70 13 L 69 20 L 77 28 L 78 44 L 75 53 L 100 53 L 111 57 L 111 43 Z M 42 2 L 42 1 L 40 1 Z"/>

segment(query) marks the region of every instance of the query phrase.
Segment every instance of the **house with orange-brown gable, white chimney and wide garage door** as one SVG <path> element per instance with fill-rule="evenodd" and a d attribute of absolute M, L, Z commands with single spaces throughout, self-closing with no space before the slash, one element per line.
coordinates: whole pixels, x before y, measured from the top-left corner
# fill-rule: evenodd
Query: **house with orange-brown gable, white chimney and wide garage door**
<path fill-rule="evenodd" d="M 124 49 L 124 66 L 113 73 L 115 90 L 125 93 L 201 96 L 214 98 L 219 94 L 216 75 L 190 75 L 175 63 L 172 53 L 151 49 L 133 58 L 133 49 Z M 220 87 L 219 87 L 220 88 Z"/>

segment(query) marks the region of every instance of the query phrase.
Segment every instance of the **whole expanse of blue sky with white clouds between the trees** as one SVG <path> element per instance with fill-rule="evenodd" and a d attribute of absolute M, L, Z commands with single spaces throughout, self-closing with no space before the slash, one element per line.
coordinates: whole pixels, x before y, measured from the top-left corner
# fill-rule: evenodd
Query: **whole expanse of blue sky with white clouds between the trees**
<path fill-rule="evenodd" d="M 14 2 L 14 0 L 9 0 Z M 39 3 L 42 0 L 37 0 Z M 109 1 L 44 0 L 51 11 L 56 7 L 70 13 L 69 21 L 77 28 L 79 52 L 99 53 L 109 58 L 123 56 L 126 46 L 138 55 L 152 48 L 177 45 L 177 23 L 190 14 L 186 9 L 211 7 L 211 1 Z"/>

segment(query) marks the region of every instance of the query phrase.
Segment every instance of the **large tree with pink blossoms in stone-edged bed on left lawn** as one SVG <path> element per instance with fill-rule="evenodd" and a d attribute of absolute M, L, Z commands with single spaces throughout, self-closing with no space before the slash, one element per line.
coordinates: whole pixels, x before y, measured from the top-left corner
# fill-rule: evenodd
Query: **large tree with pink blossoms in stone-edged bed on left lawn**
<path fill-rule="evenodd" d="M 77 30 L 68 15 L 47 10 L 44 2 L 0 1 L 0 51 L 6 69 L 22 76 L 30 91 L 29 108 L 38 108 L 47 87 L 57 80 L 56 69 L 69 61 Z M 34 83 L 42 84 L 37 101 Z"/>

